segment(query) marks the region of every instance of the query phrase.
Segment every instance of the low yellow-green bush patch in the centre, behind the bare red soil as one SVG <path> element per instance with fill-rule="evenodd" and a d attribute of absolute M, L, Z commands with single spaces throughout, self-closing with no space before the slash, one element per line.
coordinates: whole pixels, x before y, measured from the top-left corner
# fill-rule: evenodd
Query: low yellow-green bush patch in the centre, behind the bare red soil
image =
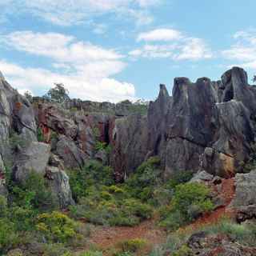
<path fill-rule="evenodd" d="M 118 186 L 102 186 L 100 190 L 90 188 L 88 196 L 79 204 L 70 206 L 74 218 L 110 226 L 134 226 L 150 218 L 152 208 L 135 198 L 127 198 Z"/>

